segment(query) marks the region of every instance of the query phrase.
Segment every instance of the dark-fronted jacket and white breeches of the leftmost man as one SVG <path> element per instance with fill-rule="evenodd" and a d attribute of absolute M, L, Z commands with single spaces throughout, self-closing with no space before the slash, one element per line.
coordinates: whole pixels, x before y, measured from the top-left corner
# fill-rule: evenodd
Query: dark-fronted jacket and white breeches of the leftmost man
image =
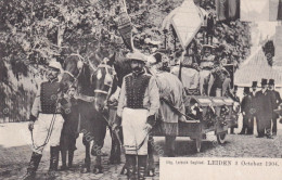
<path fill-rule="evenodd" d="M 60 83 L 57 79 L 53 81 L 42 82 L 37 91 L 35 102 L 31 108 L 31 115 L 38 118 L 35 121 L 34 137 L 34 152 L 42 153 L 46 143 L 48 142 L 48 134 L 50 136 L 50 145 L 60 145 L 60 137 L 63 128 L 64 119 L 61 115 L 61 106 L 57 102 L 57 90 Z M 53 120 L 54 119 L 54 120 Z M 50 126 L 51 123 L 53 126 Z"/>

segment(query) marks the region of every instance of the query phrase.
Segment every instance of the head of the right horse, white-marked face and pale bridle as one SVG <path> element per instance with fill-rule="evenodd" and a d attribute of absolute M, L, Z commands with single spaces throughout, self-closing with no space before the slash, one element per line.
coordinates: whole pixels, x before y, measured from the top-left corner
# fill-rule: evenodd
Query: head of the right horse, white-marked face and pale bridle
<path fill-rule="evenodd" d="M 95 110 L 101 112 L 107 104 L 115 78 L 115 69 L 107 62 L 98 66 L 94 75 Z"/>

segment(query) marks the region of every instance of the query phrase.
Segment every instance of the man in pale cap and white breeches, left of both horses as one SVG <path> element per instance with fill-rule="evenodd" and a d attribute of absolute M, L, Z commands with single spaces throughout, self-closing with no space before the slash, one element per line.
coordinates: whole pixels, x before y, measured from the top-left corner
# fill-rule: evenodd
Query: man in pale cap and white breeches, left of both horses
<path fill-rule="evenodd" d="M 60 107 L 60 82 L 57 75 L 61 70 L 61 64 L 56 61 L 49 63 L 48 81 L 42 82 L 37 91 L 35 102 L 31 108 L 28 128 L 33 134 L 34 150 L 27 167 L 27 173 L 24 180 L 35 179 L 36 170 L 42 157 L 42 151 L 50 141 L 50 167 L 47 179 L 55 178 L 57 170 L 60 137 L 64 119 Z M 35 131 L 33 132 L 35 126 Z"/>

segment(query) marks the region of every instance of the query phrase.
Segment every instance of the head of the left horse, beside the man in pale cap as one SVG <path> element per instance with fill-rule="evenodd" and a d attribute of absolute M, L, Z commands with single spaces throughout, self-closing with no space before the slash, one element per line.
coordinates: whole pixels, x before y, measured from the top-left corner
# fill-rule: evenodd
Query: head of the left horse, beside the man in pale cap
<path fill-rule="evenodd" d="M 79 55 L 70 55 L 64 61 L 63 64 L 64 73 L 61 79 L 61 85 L 64 92 L 66 92 L 69 87 L 76 83 L 82 67 L 84 67 L 84 62 Z"/>

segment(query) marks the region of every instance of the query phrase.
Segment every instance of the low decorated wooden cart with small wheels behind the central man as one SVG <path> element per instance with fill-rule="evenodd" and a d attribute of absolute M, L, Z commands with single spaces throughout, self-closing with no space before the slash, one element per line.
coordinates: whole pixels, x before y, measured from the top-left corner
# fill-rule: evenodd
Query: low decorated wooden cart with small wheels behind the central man
<path fill-rule="evenodd" d="M 188 95 L 185 108 L 189 123 L 178 123 L 178 137 L 190 137 L 195 142 L 197 152 L 201 152 L 202 141 L 206 133 L 214 131 L 219 144 L 223 144 L 228 128 L 238 125 L 238 113 L 233 106 L 234 101 L 230 98 Z M 191 107 L 197 103 L 201 114 L 191 114 Z M 155 137 L 164 137 L 161 126 L 156 124 L 152 132 Z"/>

